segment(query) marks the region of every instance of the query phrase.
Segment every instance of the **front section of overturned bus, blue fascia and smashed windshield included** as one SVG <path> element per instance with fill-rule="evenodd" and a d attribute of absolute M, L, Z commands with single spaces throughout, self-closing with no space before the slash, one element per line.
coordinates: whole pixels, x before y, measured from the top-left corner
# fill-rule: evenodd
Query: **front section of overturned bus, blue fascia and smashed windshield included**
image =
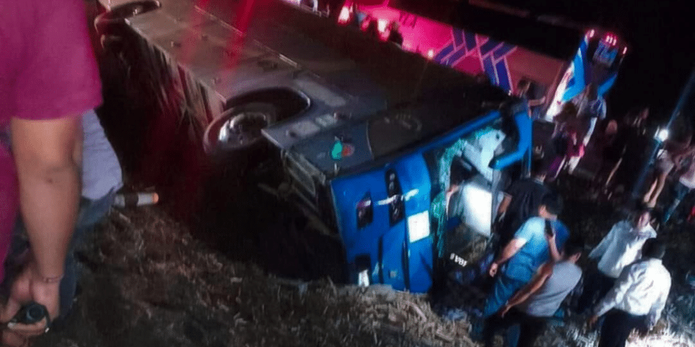
<path fill-rule="evenodd" d="M 353 282 L 423 292 L 452 228 L 489 235 L 500 189 L 528 169 L 524 108 L 481 107 L 504 96 L 470 85 L 339 128 L 288 119 L 263 133 L 282 149 L 296 194 L 338 231 Z M 297 129 L 313 134 L 292 146 L 275 137 Z"/>

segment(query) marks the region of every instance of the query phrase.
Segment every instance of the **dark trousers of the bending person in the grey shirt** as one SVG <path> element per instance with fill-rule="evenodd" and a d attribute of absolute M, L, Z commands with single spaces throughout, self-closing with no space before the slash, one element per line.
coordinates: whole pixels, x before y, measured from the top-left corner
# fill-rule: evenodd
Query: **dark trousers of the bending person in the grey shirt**
<path fill-rule="evenodd" d="M 546 328 L 547 317 L 535 317 L 525 314 L 512 307 L 504 317 L 493 314 L 485 320 L 485 328 L 482 332 L 485 347 L 493 346 L 495 332 L 508 329 L 512 325 L 520 325 L 519 339 L 517 347 L 532 347 L 538 335 Z"/>

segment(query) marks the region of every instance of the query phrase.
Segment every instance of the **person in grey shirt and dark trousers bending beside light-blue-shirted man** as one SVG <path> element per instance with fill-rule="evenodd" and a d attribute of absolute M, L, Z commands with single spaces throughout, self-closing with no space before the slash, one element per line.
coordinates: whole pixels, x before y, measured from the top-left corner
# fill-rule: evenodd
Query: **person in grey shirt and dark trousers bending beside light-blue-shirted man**
<path fill-rule="evenodd" d="M 582 277 L 582 269 L 576 263 L 583 248 L 584 244 L 578 240 L 568 242 L 562 260 L 543 264 L 533 280 L 517 291 L 498 314 L 486 319 L 483 330 L 485 347 L 493 346 L 497 330 L 517 324 L 521 325 L 517 346 L 533 346 L 548 319 Z"/>

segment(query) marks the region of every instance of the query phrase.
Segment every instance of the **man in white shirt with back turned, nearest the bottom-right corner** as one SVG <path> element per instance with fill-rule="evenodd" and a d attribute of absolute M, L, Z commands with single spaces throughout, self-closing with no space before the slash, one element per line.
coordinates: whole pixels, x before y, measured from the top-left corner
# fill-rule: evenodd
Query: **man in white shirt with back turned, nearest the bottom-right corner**
<path fill-rule="evenodd" d="M 605 314 L 598 347 L 624 347 L 632 329 L 646 332 L 659 320 L 671 290 L 671 274 L 661 261 L 665 251 L 657 239 L 644 242 L 642 259 L 626 266 L 594 307 L 589 325 Z"/>

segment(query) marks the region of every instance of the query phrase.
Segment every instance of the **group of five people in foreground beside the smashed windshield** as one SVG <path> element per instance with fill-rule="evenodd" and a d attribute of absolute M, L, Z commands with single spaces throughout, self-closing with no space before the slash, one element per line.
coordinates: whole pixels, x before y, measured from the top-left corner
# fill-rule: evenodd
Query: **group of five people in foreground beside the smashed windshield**
<path fill-rule="evenodd" d="M 536 167 L 542 168 L 540 162 Z M 651 209 L 642 203 L 632 208 L 588 253 L 596 265 L 581 269 L 584 242 L 559 221 L 562 198 L 545 178 L 543 169 L 534 169 L 531 178 L 512 183 L 498 210 L 496 255 L 488 269 L 494 284 L 483 312 L 485 346 L 502 328 L 510 328 L 507 346 L 533 346 L 571 293 L 577 300 L 566 308 L 584 314 L 590 326 L 601 325 L 599 346 L 624 346 L 633 329 L 653 328 L 671 287 Z"/>

